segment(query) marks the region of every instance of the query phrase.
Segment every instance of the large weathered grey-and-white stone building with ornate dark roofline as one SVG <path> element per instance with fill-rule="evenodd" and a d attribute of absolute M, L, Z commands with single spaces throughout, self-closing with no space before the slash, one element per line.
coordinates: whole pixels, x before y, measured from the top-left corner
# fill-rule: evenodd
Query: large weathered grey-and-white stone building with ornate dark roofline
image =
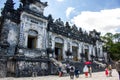
<path fill-rule="evenodd" d="M 50 60 L 106 61 L 100 32 L 83 31 L 60 18 L 44 16 L 47 2 L 7 0 L 0 17 L 0 77 L 54 73 Z M 47 72 L 47 73 L 46 73 Z"/>

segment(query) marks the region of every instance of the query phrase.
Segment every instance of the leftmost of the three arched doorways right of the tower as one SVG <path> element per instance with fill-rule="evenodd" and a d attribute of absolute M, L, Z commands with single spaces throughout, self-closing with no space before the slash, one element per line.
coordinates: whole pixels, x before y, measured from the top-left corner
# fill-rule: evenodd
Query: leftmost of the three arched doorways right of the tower
<path fill-rule="evenodd" d="M 62 38 L 56 37 L 55 38 L 55 58 L 58 61 L 63 60 L 63 47 L 64 47 L 64 40 Z"/>

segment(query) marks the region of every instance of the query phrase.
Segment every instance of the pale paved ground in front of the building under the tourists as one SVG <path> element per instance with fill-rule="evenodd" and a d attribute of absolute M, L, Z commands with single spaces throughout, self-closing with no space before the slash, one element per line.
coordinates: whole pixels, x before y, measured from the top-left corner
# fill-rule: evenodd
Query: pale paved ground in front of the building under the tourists
<path fill-rule="evenodd" d="M 112 77 L 106 77 L 105 72 L 93 73 L 92 77 L 85 78 L 83 74 L 79 78 L 74 78 L 74 80 L 118 80 L 118 74 L 116 70 L 113 70 Z M 70 80 L 69 76 L 58 77 L 58 76 L 43 76 L 43 77 L 27 77 L 27 78 L 0 78 L 0 80 Z"/>

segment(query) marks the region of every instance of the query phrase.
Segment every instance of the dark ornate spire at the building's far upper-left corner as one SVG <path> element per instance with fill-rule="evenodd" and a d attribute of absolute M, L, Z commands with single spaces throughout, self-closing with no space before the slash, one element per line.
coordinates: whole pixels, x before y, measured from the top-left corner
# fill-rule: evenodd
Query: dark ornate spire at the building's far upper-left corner
<path fill-rule="evenodd" d="M 1 12 L 1 14 L 4 16 L 6 16 L 8 13 L 13 12 L 14 10 L 14 3 L 13 0 L 7 0 L 5 3 L 5 7 L 3 8 L 3 11 Z"/>

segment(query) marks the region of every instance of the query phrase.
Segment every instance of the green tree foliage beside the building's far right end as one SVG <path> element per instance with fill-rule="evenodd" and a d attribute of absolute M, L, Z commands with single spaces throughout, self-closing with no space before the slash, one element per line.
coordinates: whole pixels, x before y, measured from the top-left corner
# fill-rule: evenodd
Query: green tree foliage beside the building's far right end
<path fill-rule="evenodd" d="M 120 59 L 120 33 L 106 33 L 101 39 L 105 43 L 104 47 L 109 47 L 110 57 L 113 60 Z"/>

